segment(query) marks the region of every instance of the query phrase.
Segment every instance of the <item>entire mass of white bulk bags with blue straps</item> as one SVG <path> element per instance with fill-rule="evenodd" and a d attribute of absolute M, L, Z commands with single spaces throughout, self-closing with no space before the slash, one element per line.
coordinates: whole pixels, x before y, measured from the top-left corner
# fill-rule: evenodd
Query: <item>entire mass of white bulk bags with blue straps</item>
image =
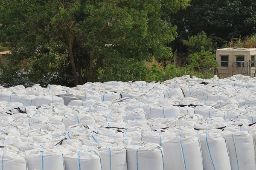
<path fill-rule="evenodd" d="M 256 170 L 254 81 L 183 76 L 1 88 L 0 167 Z"/>

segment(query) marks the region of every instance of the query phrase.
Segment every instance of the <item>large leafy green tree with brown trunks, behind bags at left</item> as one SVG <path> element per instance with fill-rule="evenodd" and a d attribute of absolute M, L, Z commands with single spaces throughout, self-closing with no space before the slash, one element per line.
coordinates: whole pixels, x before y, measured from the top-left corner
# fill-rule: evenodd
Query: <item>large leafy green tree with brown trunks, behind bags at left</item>
<path fill-rule="evenodd" d="M 149 53 L 171 57 L 167 44 L 177 33 L 169 16 L 189 2 L 0 0 L 0 40 L 10 42 L 13 63 L 30 59 L 35 72 L 63 68 L 65 74 L 73 73 L 75 85 L 94 82 L 105 59 L 144 60 Z M 52 66 L 57 60 L 62 63 L 58 69 Z"/>

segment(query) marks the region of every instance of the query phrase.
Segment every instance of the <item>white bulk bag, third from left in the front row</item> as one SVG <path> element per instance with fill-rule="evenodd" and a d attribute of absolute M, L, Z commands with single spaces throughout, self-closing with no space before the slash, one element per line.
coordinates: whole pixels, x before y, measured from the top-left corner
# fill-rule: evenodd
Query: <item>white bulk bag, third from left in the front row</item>
<path fill-rule="evenodd" d="M 65 170 L 102 170 L 99 153 L 94 150 L 64 155 Z"/>

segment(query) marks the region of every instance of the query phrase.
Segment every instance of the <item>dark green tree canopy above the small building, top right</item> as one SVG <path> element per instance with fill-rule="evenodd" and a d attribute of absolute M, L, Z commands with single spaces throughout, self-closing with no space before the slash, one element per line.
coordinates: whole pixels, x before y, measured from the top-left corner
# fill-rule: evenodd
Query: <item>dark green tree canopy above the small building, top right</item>
<path fill-rule="evenodd" d="M 192 0 L 186 10 L 172 15 L 179 35 L 175 48 L 186 51 L 186 48 L 180 49 L 183 47 L 181 40 L 202 31 L 226 41 L 253 34 L 256 31 L 255 11 L 255 0 Z"/>

